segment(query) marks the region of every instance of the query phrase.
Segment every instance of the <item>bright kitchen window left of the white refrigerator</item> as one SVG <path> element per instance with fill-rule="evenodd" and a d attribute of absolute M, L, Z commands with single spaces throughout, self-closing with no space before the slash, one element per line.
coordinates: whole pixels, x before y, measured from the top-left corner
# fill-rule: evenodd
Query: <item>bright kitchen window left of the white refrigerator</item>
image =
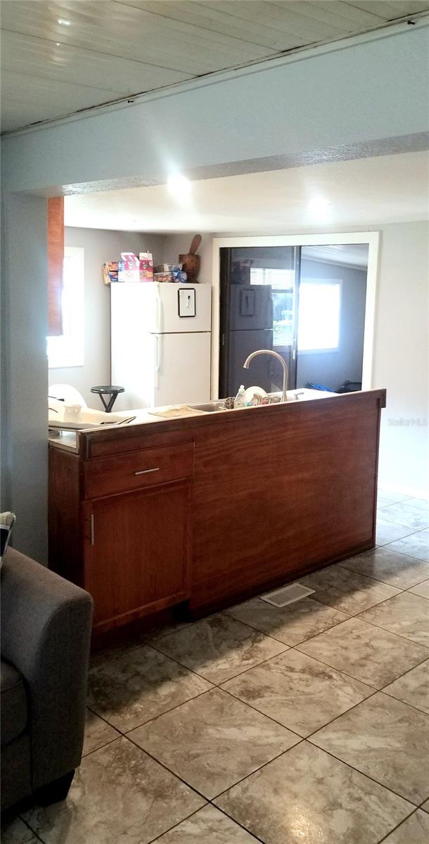
<path fill-rule="evenodd" d="M 50 369 L 84 365 L 84 249 L 64 247 L 62 334 L 48 337 Z"/>

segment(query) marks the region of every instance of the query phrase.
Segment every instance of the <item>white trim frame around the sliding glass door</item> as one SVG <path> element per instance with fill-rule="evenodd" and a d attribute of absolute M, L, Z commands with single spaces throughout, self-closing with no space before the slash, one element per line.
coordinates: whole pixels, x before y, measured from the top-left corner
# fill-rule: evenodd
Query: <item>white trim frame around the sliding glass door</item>
<path fill-rule="evenodd" d="M 219 398 L 220 360 L 220 249 L 239 246 L 331 246 L 335 244 L 367 244 L 367 297 L 363 338 L 362 390 L 372 389 L 374 333 L 377 304 L 377 273 L 380 243 L 379 231 L 336 232 L 319 235 L 261 235 L 257 237 L 214 237 L 213 240 L 213 308 L 212 308 L 212 398 Z"/>

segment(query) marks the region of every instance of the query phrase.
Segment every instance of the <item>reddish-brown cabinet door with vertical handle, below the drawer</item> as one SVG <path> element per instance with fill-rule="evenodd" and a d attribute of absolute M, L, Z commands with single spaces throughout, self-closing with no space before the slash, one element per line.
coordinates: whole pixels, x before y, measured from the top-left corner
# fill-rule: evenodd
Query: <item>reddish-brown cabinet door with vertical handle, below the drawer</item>
<path fill-rule="evenodd" d="M 190 484 L 84 504 L 84 587 L 99 630 L 185 600 Z"/>

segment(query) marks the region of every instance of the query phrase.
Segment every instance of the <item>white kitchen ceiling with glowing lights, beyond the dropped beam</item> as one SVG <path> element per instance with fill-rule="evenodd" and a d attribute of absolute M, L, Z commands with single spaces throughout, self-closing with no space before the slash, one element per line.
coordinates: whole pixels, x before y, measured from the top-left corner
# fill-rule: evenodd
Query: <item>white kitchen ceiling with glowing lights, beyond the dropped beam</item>
<path fill-rule="evenodd" d="M 427 152 L 65 197 L 66 225 L 130 231 L 283 233 L 428 216 Z"/>

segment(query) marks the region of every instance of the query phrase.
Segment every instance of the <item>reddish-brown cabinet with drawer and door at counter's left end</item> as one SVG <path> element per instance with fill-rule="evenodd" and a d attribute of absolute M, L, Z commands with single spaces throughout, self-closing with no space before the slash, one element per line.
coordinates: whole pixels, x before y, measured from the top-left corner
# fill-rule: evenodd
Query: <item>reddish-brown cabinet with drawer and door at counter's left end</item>
<path fill-rule="evenodd" d="M 97 633 L 189 598 L 193 443 L 49 453 L 49 565 L 94 598 Z"/>

